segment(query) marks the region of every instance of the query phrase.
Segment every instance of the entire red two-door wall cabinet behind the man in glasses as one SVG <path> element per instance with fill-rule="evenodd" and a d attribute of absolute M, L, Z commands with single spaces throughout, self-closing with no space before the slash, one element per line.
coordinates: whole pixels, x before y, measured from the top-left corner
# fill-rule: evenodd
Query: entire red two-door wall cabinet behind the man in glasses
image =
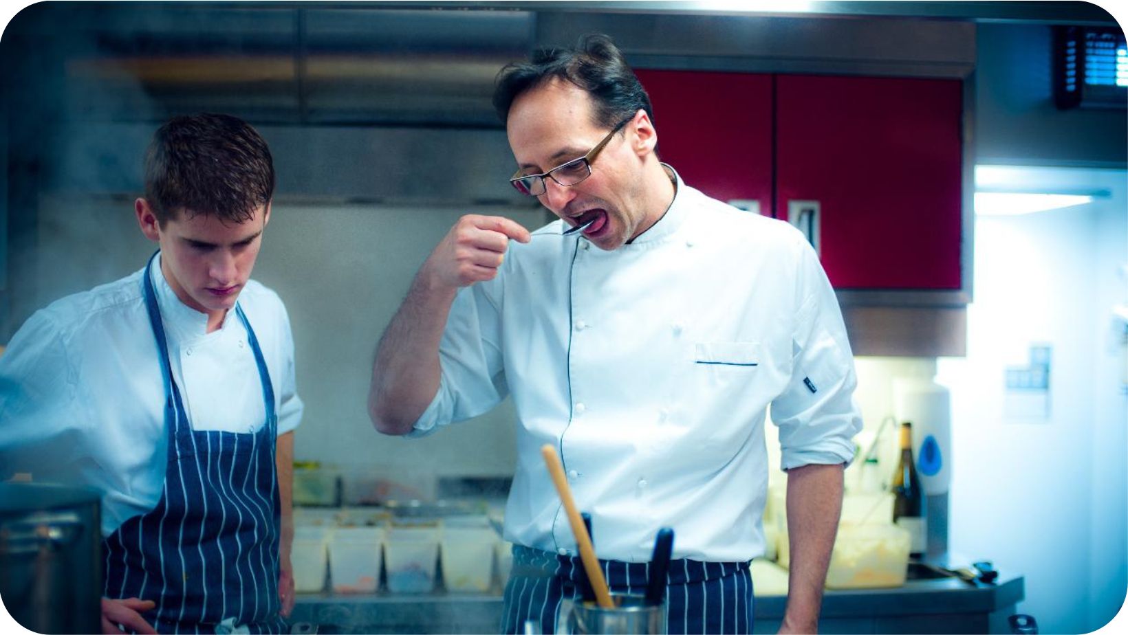
<path fill-rule="evenodd" d="M 792 203 L 817 204 L 819 256 L 836 289 L 962 288 L 960 80 L 638 78 L 660 156 L 686 183 L 723 201 L 757 200 L 784 220 Z"/>

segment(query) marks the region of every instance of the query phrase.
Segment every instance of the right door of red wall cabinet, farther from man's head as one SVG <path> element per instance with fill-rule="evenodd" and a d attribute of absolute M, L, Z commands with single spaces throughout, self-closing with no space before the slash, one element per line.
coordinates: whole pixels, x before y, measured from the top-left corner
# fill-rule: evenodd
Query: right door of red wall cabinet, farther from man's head
<path fill-rule="evenodd" d="M 775 215 L 818 201 L 839 289 L 960 289 L 962 83 L 776 77 Z"/>

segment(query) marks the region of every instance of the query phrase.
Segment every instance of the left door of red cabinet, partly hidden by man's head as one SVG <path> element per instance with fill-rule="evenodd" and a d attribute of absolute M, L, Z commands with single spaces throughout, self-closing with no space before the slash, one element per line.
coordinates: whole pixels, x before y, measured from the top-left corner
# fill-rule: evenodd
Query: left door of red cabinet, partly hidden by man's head
<path fill-rule="evenodd" d="M 772 76 L 635 71 L 658 129 L 658 153 L 691 186 L 721 201 L 772 210 Z"/>

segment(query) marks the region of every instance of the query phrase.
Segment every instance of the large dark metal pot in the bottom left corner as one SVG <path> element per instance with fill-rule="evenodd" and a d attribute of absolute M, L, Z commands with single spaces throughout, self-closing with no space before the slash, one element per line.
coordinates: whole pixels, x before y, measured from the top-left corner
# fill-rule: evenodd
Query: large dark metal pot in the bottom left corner
<path fill-rule="evenodd" d="M 16 621 L 100 633 L 103 575 L 97 492 L 0 483 L 0 598 Z"/>

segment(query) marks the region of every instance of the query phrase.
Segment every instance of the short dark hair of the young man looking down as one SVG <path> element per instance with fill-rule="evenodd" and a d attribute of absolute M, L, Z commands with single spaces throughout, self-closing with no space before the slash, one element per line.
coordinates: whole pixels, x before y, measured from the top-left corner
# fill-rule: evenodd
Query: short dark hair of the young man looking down
<path fill-rule="evenodd" d="M 144 196 L 160 226 L 180 213 L 247 221 L 274 195 L 266 141 L 231 115 L 173 117 L 153 134 L 144 160 Z"/>

